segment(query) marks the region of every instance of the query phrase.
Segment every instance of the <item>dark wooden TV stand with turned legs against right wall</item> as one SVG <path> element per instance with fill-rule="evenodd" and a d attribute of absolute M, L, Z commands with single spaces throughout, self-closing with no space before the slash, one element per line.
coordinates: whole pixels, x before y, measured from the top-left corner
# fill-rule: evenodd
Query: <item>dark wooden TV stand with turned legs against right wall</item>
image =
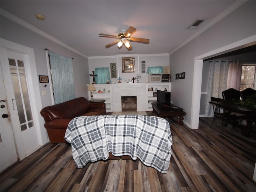
<path fill-rule="evenodd" d="M 178 111 L 178 110 L 172 110 L 168 106 L 159 105 L 158 103 L 152 103 L 153 112 L 156 112 L 158 116 L 164 117 L 164 116 L 180 116 L 180 125 L 183 125 L 184 115 L 186 115 L 186 112 Z M 171 107 L 176 107 L 172 105 Z"/>

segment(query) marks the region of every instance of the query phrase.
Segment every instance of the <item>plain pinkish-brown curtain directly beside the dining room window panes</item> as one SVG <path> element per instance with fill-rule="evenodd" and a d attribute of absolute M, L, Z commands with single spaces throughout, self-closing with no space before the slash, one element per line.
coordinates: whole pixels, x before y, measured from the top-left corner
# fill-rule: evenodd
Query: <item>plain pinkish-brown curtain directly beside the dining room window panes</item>
<path fill-rule="evenodd" d="M 241 73 L 242 61 L 229 61 L 227 89 L 234 88 L 238 91 L 240 90 Z"/>

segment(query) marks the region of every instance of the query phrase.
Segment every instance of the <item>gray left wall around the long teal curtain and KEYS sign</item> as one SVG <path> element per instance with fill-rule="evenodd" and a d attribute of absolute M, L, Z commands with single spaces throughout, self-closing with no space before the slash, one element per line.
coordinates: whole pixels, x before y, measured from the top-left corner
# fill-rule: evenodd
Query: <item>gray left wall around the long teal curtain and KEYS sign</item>
<path fill-rule="evenodd" d="M 89 83 L 89 71 L 88 71 L 88 59 L 76 54 L 67 48 L 60 46 L 59 44 L 45 38 L 36 32 L 25 28 L 8 18 L 1 15 L 1 38 L 33 48 L 36 59 L 36 68 L 38 75 L 48 75 L 47 62 L 46 62 L 46 52 L 44 48 L 56 52 L 57 54 L 74 58 L 73 71 L 74 71 L 74 88 L 75 97 L 87 96 L 87 86 Z M 42 96 L 41 101 L 42 106 L 52 105 L 50 86 L 44 88 L 38 83 L 40 92 L 46 90 L 47 95 Z"/>

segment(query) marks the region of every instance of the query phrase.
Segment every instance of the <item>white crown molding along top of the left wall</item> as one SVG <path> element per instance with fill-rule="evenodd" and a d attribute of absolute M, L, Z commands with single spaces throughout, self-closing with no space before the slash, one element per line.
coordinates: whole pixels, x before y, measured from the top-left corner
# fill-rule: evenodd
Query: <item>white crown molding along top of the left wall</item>
<path fill-rule="evenodd" d="M 23 19 L 21 19 L 21 18 L 15 16 L 14 14 L 12 14 L 12 13 L 6 11 L 5 9 L 1 8 L 0 14 L 1 14 L 2 16 L 4 16 L 4 17 L 6 17 L 6 18 L 8 18 L 8 19 L 10 19 L 10 20 L 12 20 L 12 21 L 14 21 L 14 22 L 16 22 L 16 23 L 18 23 L 18 24 L 20 24 L 20 25 L 26 27 L 26 28 L 28 28 L 29 30 L 32 30 L 33 32 L 36 32 L 37 34 L 39 34 L 39 35 L 41 35 L 41 36 L 43 36 L 43 37 L 45 37 L 45 38 L 47 38 L 47 39 L 49 39 L 49 40 L 51 40 L 51 41 L 53 41 L 53 42 L 55 42 L 55 43 L 57 43 L 57 44 L 63 46 L 64 48 L 67 48 L 68 50 L 71 50 L 72 52 L 75 52 L 76 54 L 79 54 L 80 56 L 83 56 L 83 57 L 85 57 L 85 58 L 88 58 L 88 56 L 85 55 L 85 54 L 83 54 L 82 52 L 80 52 L 80 51 L 78 51 L 78 50 L 72 48 L 71 46 L 65 44 L 64 42 L 62 42 L 62 41 L 60 41 L 60 40 L 58 40 L 58 39 L 55 38 L 54 36 L 51 36 L 50 34 L 44 32 L 43 30 L 40 30 L 39 28 L 37 28 L 37 27 L 35 27 L 34 25 L 32 25 L 32 24 L 26 22 L 25 20 L 23 20 Z"/>

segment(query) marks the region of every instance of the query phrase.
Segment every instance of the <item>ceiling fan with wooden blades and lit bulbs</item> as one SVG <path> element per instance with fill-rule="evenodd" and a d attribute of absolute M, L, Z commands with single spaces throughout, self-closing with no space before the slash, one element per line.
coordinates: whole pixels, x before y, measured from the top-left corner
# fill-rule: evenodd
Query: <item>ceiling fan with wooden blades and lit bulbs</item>
<path fill-rule="evenodd" d="M 105 46 L 105 48 L 110 48 L 114 44 L 117 44 L 118 48 L 121 48 L 122 45 L 124 44 L 124 46 L 130 51 L 130 50 L 132 50 L 132 46 L 129 41 L 149 44 L 149 39 L 131 37 L 131 35 L 134 34 L 134 32 L 136 32 L 136 28 L 130 26 L 128 28 L 128 30 L 123 29 L 120 33 L 118 33 L 117 36 L 108 35 L 108 34 L 104 34 L 104 33 L 100 33 L 99 36 L 118 39 L 110 44 L 107 44 Z"/>

